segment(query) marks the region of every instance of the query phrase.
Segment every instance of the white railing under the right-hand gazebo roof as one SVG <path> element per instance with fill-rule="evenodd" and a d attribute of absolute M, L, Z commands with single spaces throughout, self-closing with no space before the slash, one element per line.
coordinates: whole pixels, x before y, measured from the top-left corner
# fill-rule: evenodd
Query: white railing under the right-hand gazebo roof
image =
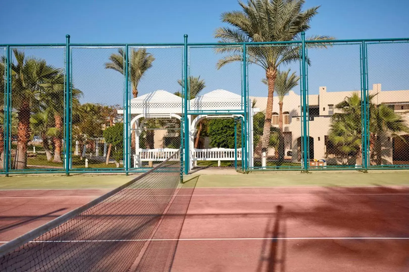
<path fill-rule="evenodd" d="M 192 161 L 234 161 L 234 148 L 193 149 Z M 237 149 L 237 159 L 241 159 L 241 148 Z"/>

